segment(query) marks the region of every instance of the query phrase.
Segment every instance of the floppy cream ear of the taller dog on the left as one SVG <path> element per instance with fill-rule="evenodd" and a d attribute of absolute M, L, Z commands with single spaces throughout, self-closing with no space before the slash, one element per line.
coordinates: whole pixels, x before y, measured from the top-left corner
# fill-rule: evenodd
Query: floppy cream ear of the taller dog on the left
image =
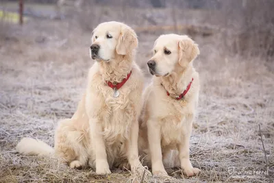
<path fill-rule="evenodd" d="M 127 55 L 132 52 L 133 49 L 138 47 L 137 35 L 131 27 L 122 25 L 120 37 L 116 46 L 116 52 L 119 55 Z"/>

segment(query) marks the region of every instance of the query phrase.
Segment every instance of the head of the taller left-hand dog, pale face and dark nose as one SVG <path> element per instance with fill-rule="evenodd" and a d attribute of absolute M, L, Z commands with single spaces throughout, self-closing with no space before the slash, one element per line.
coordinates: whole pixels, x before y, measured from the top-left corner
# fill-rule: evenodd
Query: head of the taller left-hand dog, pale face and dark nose
<path fill-rule="evenodd" d="M 119 22 L 99 24 L 93 31 L 90 58 L 110 62 L 116 55 L 126 56 L 138 47 L 134 30 Z"/>

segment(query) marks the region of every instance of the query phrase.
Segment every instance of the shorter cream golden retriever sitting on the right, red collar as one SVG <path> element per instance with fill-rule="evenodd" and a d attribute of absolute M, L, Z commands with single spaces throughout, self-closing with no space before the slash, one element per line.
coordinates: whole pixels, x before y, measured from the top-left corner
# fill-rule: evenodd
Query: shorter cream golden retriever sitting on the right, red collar
<path fill-rule="evenodd" d="M 145 90 L 139 134 L 140 153 L 151 160 L 153 174 L 167 175 L 164 167 L 177 166 L 187 176 L 200 171 L 192 167 L 189 158 L 199 97 L 199 74 L 192 61 L 198 55 L 198 46 L 188 36 L 167 34 L 155 41 L 153 57 L 147 63 L 155 76 Z"/>

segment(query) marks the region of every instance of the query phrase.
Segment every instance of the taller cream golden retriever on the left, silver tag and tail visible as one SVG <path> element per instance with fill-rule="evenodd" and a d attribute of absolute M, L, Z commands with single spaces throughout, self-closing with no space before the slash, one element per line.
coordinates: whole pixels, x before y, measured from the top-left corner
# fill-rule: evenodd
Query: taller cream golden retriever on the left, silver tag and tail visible
<path fill-rule="evenodd" d="M 22 154 L 64 158 L 71 168 L 141 166 L 138 160 L 138 118 L 142 108 L 142 73 L 134 62 L 138 46 L 134 30 L 118 22 L 101 23 L 94 30 L 90 56 L 97 62 L 88 73 L 88 86 L 71 119 L 59 122 L 54 149 L 23 138 Z"/>

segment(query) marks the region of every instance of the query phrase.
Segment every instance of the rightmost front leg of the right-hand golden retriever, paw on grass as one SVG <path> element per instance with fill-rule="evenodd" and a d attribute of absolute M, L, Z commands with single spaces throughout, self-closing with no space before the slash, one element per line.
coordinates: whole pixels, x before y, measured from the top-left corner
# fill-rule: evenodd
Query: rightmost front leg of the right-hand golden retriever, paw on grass
<path fill-rule="evenodd" d="M 189 158 L 189 141 L 192 130 L 192 119 L 190 123 L 188 123 L 188 127 L 184 131 L 184 135 L 182 136 L 182 142 L 177 145 L 179 151 L 179 160 L 181 162 L 181 168 L 183 173 L 186 176 L 190 177 L 193 175 L 197 175 L 200 172 L 200 169 L 193 168 Z"/>

